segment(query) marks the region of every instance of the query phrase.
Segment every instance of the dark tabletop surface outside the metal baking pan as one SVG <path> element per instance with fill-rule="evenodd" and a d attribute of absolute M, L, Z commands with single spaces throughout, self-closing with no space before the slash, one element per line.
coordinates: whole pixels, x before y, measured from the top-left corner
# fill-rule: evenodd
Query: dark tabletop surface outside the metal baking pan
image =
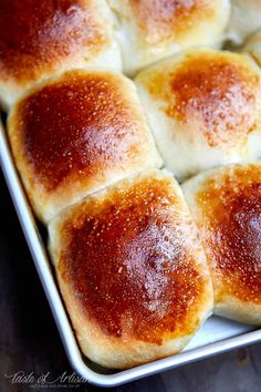
<path fill-rule="evenodd" d="M 1 173 L 0 213 L 0 391 L 102 391 L 87 384 L 32 389 L 7 379 L 18 371 L 54 379 L 72 369 Z M 107 391 L 261 392 L 261 344 Z"/>

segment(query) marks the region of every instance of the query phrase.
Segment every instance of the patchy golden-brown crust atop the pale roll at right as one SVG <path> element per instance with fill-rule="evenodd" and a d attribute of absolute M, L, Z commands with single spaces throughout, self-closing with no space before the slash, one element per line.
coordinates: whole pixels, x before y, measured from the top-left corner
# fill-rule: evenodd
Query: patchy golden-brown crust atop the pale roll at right
<path fill-rule="evenodd" d="M 191 55 L 169 83 L 175 103 L 168 115 L 182 123 L 199 117 L 210 146 L 233 144 L 257 128 L 261 80 L 247 66 L 226 56 Z"/>

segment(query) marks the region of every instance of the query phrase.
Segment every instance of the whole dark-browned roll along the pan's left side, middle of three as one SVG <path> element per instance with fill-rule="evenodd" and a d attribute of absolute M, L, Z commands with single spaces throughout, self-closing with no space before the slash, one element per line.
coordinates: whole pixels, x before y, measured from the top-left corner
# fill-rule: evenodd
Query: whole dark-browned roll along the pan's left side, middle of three
<path fill-rule="evenodd" d="M 119 73 L 71 71 L 19 101 L 8 132 L 36 215 L 64 207 L 161 159 L 135 85 Z"/>

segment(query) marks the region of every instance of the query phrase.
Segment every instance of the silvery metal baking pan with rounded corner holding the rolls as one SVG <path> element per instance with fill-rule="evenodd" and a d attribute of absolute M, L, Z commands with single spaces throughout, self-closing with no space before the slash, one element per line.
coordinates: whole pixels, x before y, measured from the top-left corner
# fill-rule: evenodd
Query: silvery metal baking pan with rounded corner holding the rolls
<path fill-rule="evenodd" d="M 0 163 L 69 361 L 73 369 L 90 383 L 100 386 L 119 385 L 261 340 L 260 329 L 257 330 L 250 326 L 211 317 L 190 341 L 186 350 L 177 355 L 118 372 L 108 371 L 88 361 L 79 349 L 55 282 L 51 261 L 45 251 L 44 239 L 21 186 L 1 123 Z"/>

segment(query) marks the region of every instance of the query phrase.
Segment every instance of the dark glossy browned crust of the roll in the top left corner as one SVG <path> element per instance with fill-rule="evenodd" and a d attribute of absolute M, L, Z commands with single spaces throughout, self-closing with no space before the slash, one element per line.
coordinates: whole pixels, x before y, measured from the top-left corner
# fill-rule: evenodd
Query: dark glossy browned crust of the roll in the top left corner
<path fill-rule="evenodd" d="M 107 44 L 90 0 L 1 0 L 0 73 L 36 80 L 66 58 L 85 59 Z"/>

